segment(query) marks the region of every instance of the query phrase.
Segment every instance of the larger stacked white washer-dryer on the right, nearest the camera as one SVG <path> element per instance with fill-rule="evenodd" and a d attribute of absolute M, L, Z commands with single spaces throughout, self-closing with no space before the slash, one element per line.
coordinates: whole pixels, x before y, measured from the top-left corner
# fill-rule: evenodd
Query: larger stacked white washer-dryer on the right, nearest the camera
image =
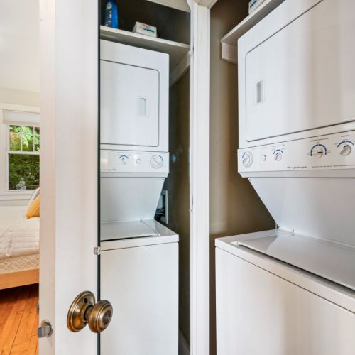
<path fill-rule="evenodd" d="M 355 1 L 239 40 L 239 173 L 279 229 L 216 241 L 217 354 L 355 354 Z"/>

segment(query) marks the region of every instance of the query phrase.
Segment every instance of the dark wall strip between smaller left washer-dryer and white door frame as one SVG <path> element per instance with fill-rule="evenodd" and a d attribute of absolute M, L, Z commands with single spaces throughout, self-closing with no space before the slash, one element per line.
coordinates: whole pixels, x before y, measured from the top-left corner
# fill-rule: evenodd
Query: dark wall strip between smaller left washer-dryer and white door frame
<path fill-rule="evenodd" d="M 179 327 L 190 343 L 190 70 L 170 89 L 168 227 L 179 234 Z"/>

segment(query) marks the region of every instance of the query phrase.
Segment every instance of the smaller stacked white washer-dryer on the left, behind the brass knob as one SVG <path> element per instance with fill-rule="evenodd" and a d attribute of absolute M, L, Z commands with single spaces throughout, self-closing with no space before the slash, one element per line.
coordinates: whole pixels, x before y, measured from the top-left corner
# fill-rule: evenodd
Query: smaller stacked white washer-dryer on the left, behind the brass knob
<path fill-rule="evenodd" d="M 169 57 L 101 40 L 101 354 L 178 354 L 178 235 L 154 220 L 169 173 Z"/>

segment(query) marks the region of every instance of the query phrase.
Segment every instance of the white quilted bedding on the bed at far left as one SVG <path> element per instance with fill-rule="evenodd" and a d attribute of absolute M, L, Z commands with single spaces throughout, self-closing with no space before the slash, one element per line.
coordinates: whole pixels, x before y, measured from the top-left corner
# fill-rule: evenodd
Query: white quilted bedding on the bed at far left
<path fill-rule="evenodd" d="M 39 218 L 26 219 L 26 206 L 0 206 L 0 260 L 39 251 Z"/>

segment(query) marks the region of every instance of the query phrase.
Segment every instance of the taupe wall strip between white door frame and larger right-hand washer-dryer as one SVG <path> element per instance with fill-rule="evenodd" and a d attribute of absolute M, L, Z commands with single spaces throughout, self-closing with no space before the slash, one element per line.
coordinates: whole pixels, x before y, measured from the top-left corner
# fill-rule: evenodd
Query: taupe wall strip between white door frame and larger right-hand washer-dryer
<path fill-rule="evenodd" d="M 216 354 L 214 239 L 275 227 L 249 181 L 237 173 L 237 66 L 220 60 L 219 40 L 248 15 L 248 2 L 219 0 L 211 11 L 211 355 Z"/>

